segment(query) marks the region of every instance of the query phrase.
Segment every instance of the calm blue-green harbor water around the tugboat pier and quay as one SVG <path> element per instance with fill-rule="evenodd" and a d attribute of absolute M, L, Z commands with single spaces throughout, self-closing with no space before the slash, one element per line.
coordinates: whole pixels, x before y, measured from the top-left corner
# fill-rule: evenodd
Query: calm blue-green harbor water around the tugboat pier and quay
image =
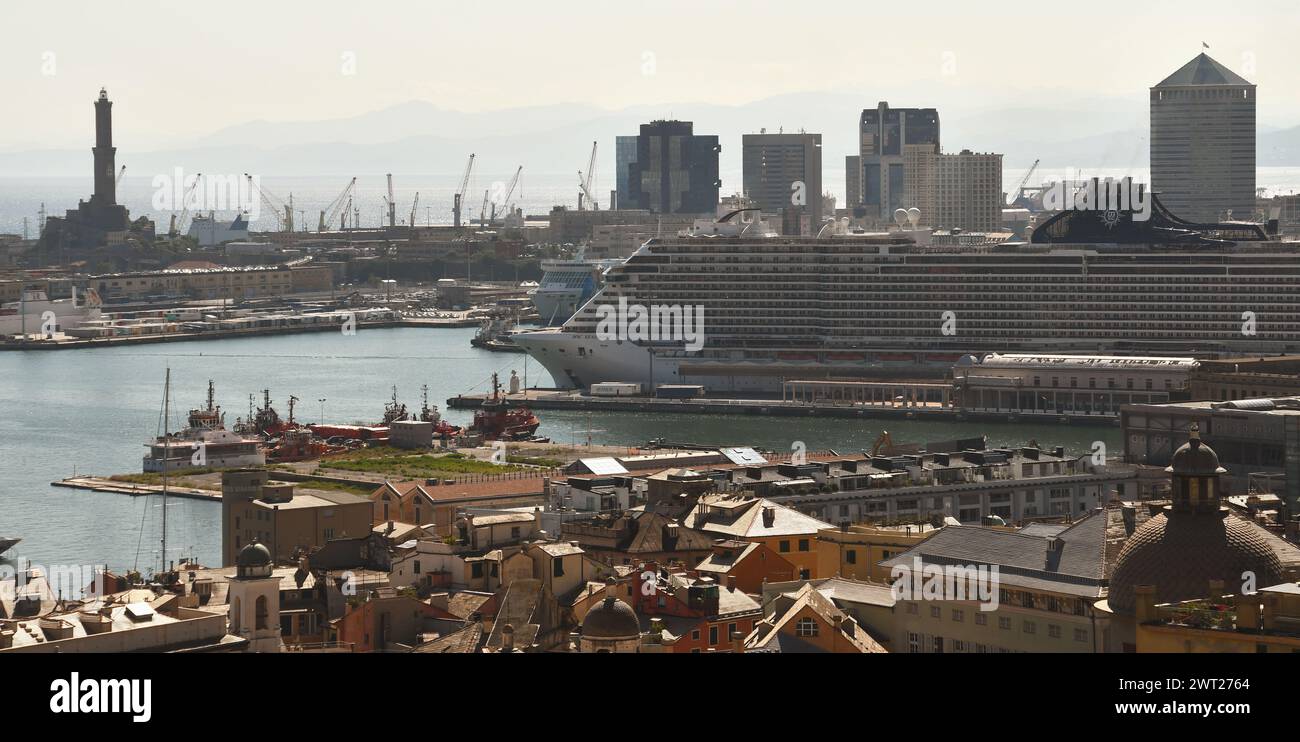
<path fill-rule="evenodd" d="M 51 486 L 79 476 L 140 470 L 144 443 L 159 431 L 164 374 L 172 369 L 172 424 L 202 407 L 207 382 L 216 385 L 226 425 L 247 416 L 248 395 L 286 416 L 289 396 L 299 398 L 295 418 L 317 422 L 374 422 L 396 386 L 399 400 L 419 411 L 420 387 L 445 407 L 448 396 L 490 390 L 493 372 L 525 374 L 525 357 L 469 346 L 474 329 L 370 329 L 343 335 L 311 333 L 136 347 L 0 353 L 0 535 L 22 543 L 0 560 L 43 565 L 107 564 L 113 570 L 160 564 L 161 498 L 127 496 Z M 529 386 L 552 385 L 536 363 L 526 364 Z M 320 400 L 325 402 L 321 403 Z M 446 411 L 468 424 L 468 411 Z M 653 413 L 545 411 L 538 435 L 556 443 L 637 446 L 653 438 L 675 442 L 758 446 L 841 454 L 868 450 L 888 426 L 897 442 L 924 443 L 987 434 L 993 446 L 1065 446 L 1071 454 L 1093 441 L 1121 450 L 1118 428 L 1057 424 L 978 424 L 879 420 L 767 418 Z M 168 500 L 169 560 L 220 560 L 220 504 Z"/>

